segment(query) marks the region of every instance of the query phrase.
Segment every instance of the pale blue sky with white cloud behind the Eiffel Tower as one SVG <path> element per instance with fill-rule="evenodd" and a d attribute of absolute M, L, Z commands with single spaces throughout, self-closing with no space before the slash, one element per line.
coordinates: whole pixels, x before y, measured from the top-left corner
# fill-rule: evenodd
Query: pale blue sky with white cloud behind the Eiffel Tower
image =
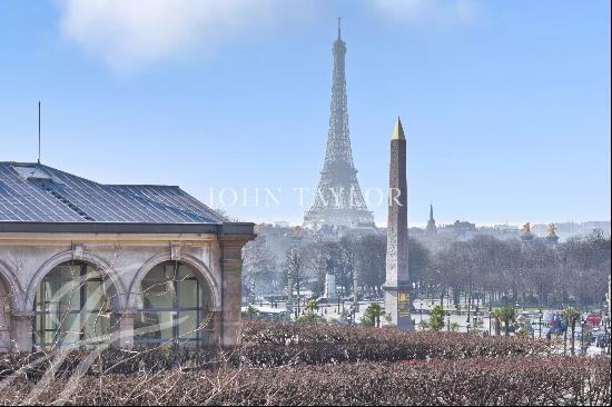
<path fill-rule="evenodd" d="M 2 0 L 0 160 L 36 160 L 41 99 L 43 163 L 207 204 L 213 188 L 214 207 L 234 188 L 231 216 L 300 221 L 338 16 L 362 189 L 387 185 L 401 116 L 413 224 L 430 202 L 438 222 L 610 219 L 604 0 Z"/>

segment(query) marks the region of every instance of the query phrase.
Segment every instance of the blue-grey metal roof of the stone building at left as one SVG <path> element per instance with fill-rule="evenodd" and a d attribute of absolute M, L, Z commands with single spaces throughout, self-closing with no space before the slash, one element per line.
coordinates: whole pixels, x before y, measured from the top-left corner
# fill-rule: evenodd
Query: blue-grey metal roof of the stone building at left
<path fill-rule="evenodd" d="M 0 224 L 223 224 L 179 187 L 102 185 L 39 165 L 0 161 Z"/>

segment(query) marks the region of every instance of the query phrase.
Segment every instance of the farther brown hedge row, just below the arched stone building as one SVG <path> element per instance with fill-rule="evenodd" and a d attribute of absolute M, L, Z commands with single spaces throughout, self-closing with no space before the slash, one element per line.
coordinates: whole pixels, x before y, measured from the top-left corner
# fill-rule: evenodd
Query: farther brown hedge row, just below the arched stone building
<path fill-rule="evenodd" d="M 106 349 L 96 357 L 88 374 L 132 374 L 176 367 L 216 368 L 278 367 L 339 363 L 460 359 L 472 357 L 549 356 L 552 343 L 515 337 L 478 338 L 453 332 L 405 332 L 397 329 L 357 328 L 329 325 L 284 325 L 248 322 L 244 344 L 231 349 L 178 348 L 149 350 Z M 0 355 L 0 378 L 22 370 L 30 379 L 39 378 L 51 366 L 56 377 L 70 376 L 91 355 L 71 351 L 58 361 L 56 355 L 16 353 Z"/>

